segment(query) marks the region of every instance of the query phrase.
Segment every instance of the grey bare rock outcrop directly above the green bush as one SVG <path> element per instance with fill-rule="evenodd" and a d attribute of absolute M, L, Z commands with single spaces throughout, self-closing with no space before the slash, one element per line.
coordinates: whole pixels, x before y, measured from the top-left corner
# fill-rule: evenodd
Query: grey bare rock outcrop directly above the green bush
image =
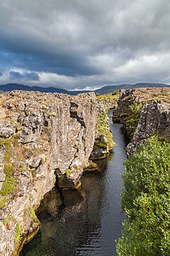
<path fill-rule="evenodd" d="M 132 141 L 127 145 L 127 154 L 133 154 L 145 139 L 158 135 L 161 139 L 170 138 L 170 107 L 161 101 L 144 104 L 141 117 Z"/>

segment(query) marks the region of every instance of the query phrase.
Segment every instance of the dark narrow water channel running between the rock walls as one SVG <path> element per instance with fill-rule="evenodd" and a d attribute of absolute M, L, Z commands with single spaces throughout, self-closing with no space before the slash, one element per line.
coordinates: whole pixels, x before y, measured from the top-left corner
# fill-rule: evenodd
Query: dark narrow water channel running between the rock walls
<path fill-rule="evenodd" d="M 111 112 L 108 113 L 111 122 Z M 62 201 L 54 188 L 45 196 L 38 215 L 42 227 L 21 252 L 23 256 L 114 256 L 124 216 L 120 190 L 125 137 L 121 124 L 111 124 L 114 154 L 102 161 L 101 174 L 85 174 L 82 191 L 65 191 Z"/>

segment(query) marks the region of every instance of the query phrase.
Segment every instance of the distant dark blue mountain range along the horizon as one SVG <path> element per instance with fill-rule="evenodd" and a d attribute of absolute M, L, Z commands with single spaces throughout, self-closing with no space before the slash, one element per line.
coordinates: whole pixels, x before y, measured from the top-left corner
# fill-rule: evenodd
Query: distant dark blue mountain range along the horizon
<path fill-rule="evenodd" d="M 34 90 L 34 91 L 40 91 L 44 93 L 66 93 L 70 95 L 77 95 L 78 93 L 88 93 L 90 91 L 94 91 L 96 95 L 106 94 L 106 93 L 113 93 L 114 90 L 119 89 L 133 89 L 133 88 L 163 88 L 168 87 L 170 88 L 170 85 L 165 84 L 158 84 L 158 83 L 149 83 L 149 82 L 141 82 L 136 85 L 107 85 L 97 90 L 65 90 L 60 88 L 54 88 L 54 87 L 48 87 L 48 88 L 42 88 L 39 86 L 28 86 L 28 85 L 19 85 L 19 84 L 7 84 L 7 85 L 0 85 L 0 90 L 2 91 L 11 91 L 11 90 Z"/>

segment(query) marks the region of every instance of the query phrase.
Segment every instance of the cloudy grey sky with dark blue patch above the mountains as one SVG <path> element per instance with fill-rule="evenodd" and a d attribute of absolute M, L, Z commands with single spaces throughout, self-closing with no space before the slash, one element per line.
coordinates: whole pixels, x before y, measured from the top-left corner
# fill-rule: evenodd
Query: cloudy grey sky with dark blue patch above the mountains
<path fill-rule="evenodd" d="M 169 0 L 3 0 L 0 84 L 170 84 Z"/>

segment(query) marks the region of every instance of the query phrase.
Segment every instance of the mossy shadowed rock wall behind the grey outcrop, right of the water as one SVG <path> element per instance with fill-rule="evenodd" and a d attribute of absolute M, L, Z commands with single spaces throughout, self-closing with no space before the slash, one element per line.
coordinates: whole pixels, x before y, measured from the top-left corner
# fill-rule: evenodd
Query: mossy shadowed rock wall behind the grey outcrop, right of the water
<path fill-rule="evenodd" d="M 169 88 L 138 88 L 120 91 L 113 121 L 123 124 L 128 138 L 133 138 L 143 105 L 152 100 L 170 104 Z"/>

